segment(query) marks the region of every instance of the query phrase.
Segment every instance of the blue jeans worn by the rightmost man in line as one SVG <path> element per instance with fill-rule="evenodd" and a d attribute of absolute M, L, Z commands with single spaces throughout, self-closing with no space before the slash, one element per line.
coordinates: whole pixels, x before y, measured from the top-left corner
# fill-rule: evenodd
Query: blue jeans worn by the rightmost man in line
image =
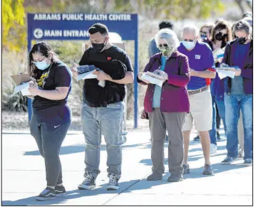
<path fill-rule="evenodd" d="M 252 159 L 252 95 L 225 94 L 227 124 L 227 156 L 233 158 L 238 154 L 237 124 L 240 109 L 244 127 L 244 159 Z"/>

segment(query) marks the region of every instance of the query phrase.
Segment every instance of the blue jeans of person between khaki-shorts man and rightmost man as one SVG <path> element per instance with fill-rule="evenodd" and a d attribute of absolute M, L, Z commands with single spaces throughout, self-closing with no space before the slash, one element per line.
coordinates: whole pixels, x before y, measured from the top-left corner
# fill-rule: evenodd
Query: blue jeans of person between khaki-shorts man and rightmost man
<path fill-rule="evenodd" d="M 210 135 L 210 143 L 217 144 L 216 107 L 217 107 L 217 110 L 219 111 L 220 118 L 223 121 L 224 130 L 226 133 L 225 102 L 224 102 L 224 96 L 217 97 L 212 95 L 212 100 L 213 100 L 213 127 L 209 131 L 209 135 Z"/>

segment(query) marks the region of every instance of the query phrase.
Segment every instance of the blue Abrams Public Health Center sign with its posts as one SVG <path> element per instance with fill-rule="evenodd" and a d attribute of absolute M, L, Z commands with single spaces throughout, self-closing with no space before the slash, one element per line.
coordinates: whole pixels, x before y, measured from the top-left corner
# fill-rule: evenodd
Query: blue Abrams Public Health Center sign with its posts
<path fill-rule="evenodd" d="M 28 14 L 28 51 L 31 41 L 84 41 L 88 28 L 103 23 L 108 31 L 118 33 L 123 41 L 135 41 L 134 76 L 138 74 L 138 15 L 137 14 Z M 29 99 L 29 120 L 31 120 Z M 138 127 L 138 83 L 134 81 L 134 128 Z"/>

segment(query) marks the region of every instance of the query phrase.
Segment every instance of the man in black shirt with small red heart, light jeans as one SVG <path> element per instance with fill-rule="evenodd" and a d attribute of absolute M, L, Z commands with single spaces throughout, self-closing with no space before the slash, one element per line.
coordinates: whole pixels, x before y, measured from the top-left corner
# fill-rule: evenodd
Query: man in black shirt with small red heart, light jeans
<path fill-rule="evenodd" d="M 108 154 L 108 190 L 116 190 L 121 177 L 121 126 L 125 84 L 133 83 L 133 68 L 126 52 L 109 42 L 108 28 L 105 25 L 95 23 L 88 32 L 92 46 L 85 51 L 79 65 L 94 65 L 101 70 L 94 73 L 97 79 L 84 80 L 83 85 L 81 117 L 86 139 L 86 169 L 85 180 L 78 189 L 96 187 L 103 134 Z M 77 66 L 74 64 L 71 68 L 75 78 L 78 75 Z M 104 87 L 98 85 L 100 80 L 106 81 Z"/>

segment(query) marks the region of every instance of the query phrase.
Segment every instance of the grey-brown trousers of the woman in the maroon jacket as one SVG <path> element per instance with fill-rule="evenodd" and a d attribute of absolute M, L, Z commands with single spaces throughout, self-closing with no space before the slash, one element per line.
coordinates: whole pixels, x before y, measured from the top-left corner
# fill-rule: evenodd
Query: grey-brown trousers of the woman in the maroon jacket
<path fill-rule="evenodd" d="M 160 108 L 154 108 L 153 112 L 148 113 L 151 122 L 150 132 L 152 134 L 152 171 L 158 174 L 165 172 L 164 143 L 167 129 L 169 135 L 169 171 L 171 174 L 183 174 L 184 138 L 182 127 L 186 114 L 185 112 L 160 112 Z"/>

